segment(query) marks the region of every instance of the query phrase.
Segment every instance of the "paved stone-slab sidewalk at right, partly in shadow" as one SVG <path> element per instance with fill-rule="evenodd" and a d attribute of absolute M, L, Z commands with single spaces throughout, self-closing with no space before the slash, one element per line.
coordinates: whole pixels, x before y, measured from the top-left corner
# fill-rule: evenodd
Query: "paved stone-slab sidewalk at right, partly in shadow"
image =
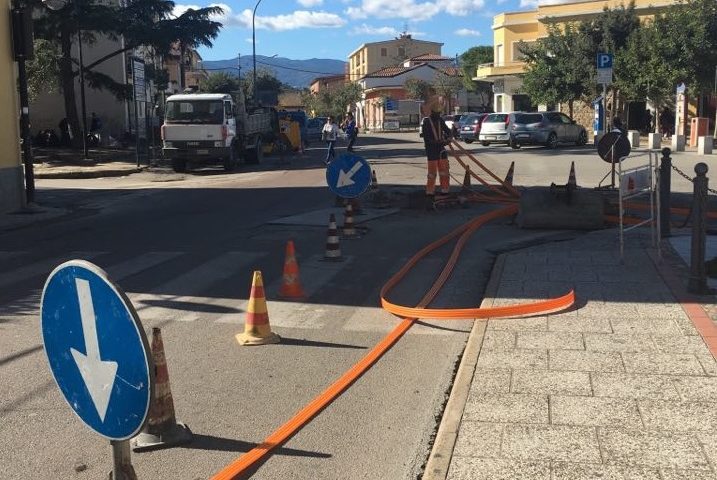
<path fill-rule="evenodd" d="M 424 479 L 717 479 L 716 330 L 648 247 L 628 235 L 621 265 L 609 230 L 500 257 L 484 306 L 577 305 L 476 322 Z"/>

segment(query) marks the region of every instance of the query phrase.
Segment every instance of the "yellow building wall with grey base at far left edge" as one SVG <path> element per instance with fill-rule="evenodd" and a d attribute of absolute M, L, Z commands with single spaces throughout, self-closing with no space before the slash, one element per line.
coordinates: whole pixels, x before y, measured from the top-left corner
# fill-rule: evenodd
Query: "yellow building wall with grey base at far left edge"
<path fill-rule="evenodd" d="M 10 0 L 0 0 L 0 213 L 24 204 L 15 62 L 10 32 Z"/>

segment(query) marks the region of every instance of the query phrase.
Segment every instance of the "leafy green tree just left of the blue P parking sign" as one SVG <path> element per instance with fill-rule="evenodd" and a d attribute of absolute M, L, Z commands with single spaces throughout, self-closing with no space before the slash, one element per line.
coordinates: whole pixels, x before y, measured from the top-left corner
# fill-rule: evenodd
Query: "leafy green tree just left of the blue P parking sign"
<path fill-rule="evenodd" d="M 566 102 L 572 118 L 575 101 L 595 89 L 594 60 L 584 54 L 589 45 L 588 37 L 570 24 L 562 31 L 551 25 L 547 37 L 522 43 L 519 49 L 526 63 L 522 91 L 535 103 Z"/>

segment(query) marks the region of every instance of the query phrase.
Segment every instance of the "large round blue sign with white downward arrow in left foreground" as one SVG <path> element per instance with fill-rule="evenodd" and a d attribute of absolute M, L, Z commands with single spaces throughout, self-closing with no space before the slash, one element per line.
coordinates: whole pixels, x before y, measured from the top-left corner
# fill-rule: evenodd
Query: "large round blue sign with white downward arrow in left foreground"
<path fill-rule="evenodd" d="M 147 418 L 154 369 L 124 292 L 98 266 L 70 260 L 48 277 L 40 315 L 50 370 L 72 410 L 110 440 L 135 436 Z"/>

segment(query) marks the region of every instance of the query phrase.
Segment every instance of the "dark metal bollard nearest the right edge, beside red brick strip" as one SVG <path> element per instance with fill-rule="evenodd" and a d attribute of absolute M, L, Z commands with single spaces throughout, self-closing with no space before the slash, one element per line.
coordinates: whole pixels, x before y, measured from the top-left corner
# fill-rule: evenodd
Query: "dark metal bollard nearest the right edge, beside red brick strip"
<path fill-rule="evenodd" d="M 705 269 L 705 249 L 707 234 L 707 164 L 695 165 L 697 176 L 692 197 L 692 252 L 690 258 L 690 279 L 687 290 L 691 293 L 707 293 L 707 271 Z"/>

